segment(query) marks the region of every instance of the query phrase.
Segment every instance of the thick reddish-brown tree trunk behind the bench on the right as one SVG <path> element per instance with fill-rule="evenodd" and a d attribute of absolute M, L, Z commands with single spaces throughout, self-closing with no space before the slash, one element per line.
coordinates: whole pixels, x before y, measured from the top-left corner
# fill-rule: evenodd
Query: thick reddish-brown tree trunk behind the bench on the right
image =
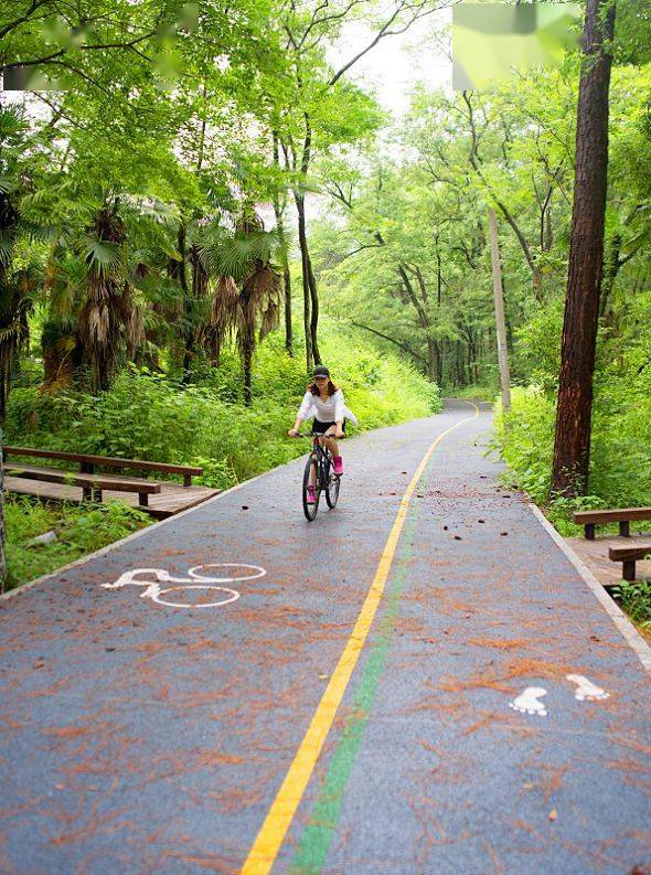
<path fill-rule="evenodd" d="M 606 15 L 604 17 L 604 10 Z M 593 375 L 604 262 L 608 173 L 608 88 L 615 2 L 587 0 L 576 126 L 576 180 L 561 349 L 552 490 L 585 494 Z"/>

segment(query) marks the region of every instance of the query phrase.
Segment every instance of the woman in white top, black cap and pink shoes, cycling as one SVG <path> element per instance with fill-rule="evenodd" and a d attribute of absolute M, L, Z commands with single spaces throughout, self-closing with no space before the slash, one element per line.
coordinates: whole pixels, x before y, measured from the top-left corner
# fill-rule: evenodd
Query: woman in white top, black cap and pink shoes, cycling
<path fill-rule="evenodd" d="M 335 438 L 343 437 L 345 433 L 345 420 L 350 419 L 356 424 L 355 415 L 350 410 L 343 398 L 343 392 L 338 388 L 330 378 L 330 371 L 322 364 L 314 367 L 312 382 L 303 396 L 294 427 L 287 433 L 291 437 L 298 435 L 298 429 L 303 419 L 314 417 L 312 431 L 324 437 L 324 444 L 332 453 L 333 472 L 338 476 L 343 473 L 343 459 L 339 455 L 339 446 Z M 314 473 L 311 474 L 312 482 L 308 488 L 308 503 L 314 502 Z"/>

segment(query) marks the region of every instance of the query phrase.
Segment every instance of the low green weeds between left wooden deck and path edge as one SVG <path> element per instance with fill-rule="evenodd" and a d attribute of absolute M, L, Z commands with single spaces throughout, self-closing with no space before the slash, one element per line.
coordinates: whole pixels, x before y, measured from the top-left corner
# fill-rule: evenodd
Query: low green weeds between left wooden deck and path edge
<path fill-rule="evenodd" d="M 26 497 L 8 495 L 4 501 L 7 532 L 7 588 L 49 574 L 86 553 L 126 537 L 151 522 L 151 517 L 119 502 L 102 505 L 43 505 Z M 53 531 L 57 540 L 31 544 Z"/>

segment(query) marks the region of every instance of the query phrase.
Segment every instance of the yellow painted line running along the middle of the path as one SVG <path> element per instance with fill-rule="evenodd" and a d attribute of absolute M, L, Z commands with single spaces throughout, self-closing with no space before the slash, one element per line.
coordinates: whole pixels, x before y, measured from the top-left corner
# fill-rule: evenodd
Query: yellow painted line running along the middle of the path
<path fill-rule="evenodd" d="M 276 862 L 287 830 L 302 799 L 302 794 L 308 786 L 317 760 L 319 759 L 319 755 L 321 754 L 321 749 L 330 732 L 330 727 L 332 726 L 334 715 L 346 691 L 349 681 L 369 636 L 373 619 L 375 618 L 416 484 L 431 453 L 442 438 L 463 423 L 468 423 L 470 419 L 476 419 L 479 416 L 479 407 L 472 404 L 472 402 L 467 402 L 467 404 L 471 404 L 472 407 L 474 407 L 474 414 L 468 416 L 466 419 L 460 419 L 453 426 L 450 426 L 450 428 L 441 431 L 423 457 L 420 465 L 416 469 L 409 485 L 401 499 L 396 519 L 384 545 L 375 577 L 364 599 L 355 627 L 339 659 L 337 668 L 330 679 L 330 683 L 326 687 L 326 692 L 319 702 L 314 716 L 289 767 L 289 771 L 285 776 L 282 786 L 278 790 L 271 803 L 271 808 L 265 818 L 265 822 L 260 826 L 256 840 L 253 843 L 248 856 L 241 869 L 241 875 L 266 875 L 270 872 L 271 866 Z"/>

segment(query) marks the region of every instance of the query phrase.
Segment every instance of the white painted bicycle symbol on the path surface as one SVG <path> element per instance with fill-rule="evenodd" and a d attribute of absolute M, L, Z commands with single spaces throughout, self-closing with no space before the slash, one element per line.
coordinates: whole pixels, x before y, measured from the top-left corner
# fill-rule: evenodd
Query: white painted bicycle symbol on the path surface
<path fill-rule="evenodd" d="M 217 569 L 238 569 L 245 574 L 228 574 L 228 576 L 213 577 L 210 574 L 211 568 Z M 224 572 L 217 572 L 224 574 Z M 231 589 L 227 586 L 220 586 L 220 584 L 234 584 L 238 580 L 256 580 L 258 577 L 264 577 L 267 572 L 260 568 L 259 565 L 246 565 L 244 563 L 235 562 L 218 562 L 210 565 L 195 565 L 193 568 L 188 569 L 188 577 L 173 577 L 164 568 L 131 568 L 125 572 L 113 584 L 102 584 L 103 589 L 121 589 L 125 586 L 143 586 L 146 587 L 140 593 L 140 598 L 150 598 L 157 605 L 164 605 L 168 608 L 221 608 L 224 605 L 230 605 L 239 598 L 239 593 L 236 589 Z M 147 575 L 150 579 L 137 580 L 140 575 Z M 156 579 L 152 580 L 151 577 Z M 161 587 L 161 584 L 174 584 L 174 586 Z M 209 595 L 214 598 L 213 601 L 170 601 L 164 598 L 170 593 L 184 593 L 192 590 L 193 593 L 202 591 L 204 596 Z M 220 594 L 217 596 L 217 593 Z"/>

